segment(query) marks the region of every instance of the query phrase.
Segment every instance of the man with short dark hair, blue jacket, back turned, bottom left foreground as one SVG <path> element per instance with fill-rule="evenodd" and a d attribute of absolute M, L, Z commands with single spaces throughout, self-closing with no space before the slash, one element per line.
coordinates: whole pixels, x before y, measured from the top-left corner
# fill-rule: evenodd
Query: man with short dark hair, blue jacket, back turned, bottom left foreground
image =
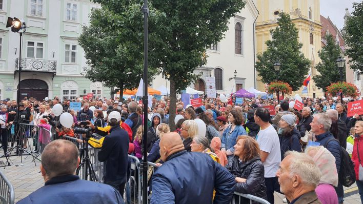
<path fill-rule="evenodd" d="M 42 188 L 17 203 L 121 203 L 124 200 L 116 189 L 103 183 L 80 180 L 74 175 L 79 165 L 77 147 L 70 141 L 50 142 L 42 153 Z"/>

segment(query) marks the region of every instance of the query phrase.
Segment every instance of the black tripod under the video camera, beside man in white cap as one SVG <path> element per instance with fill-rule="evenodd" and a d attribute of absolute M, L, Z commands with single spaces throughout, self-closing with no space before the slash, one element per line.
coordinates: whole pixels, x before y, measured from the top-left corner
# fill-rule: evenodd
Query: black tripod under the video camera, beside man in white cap
<path fill-rule="evenodd" d="M 76 175 L 79 176 L 79 173 L 82 170 L 82 179 L 98 182 L 96 173 L 91 164 L 91 159 L 88 155 L 88 139 L 83 138 L 82 147 L 79 149 L 79 158 L 81 162 L 76 170 Z"/>

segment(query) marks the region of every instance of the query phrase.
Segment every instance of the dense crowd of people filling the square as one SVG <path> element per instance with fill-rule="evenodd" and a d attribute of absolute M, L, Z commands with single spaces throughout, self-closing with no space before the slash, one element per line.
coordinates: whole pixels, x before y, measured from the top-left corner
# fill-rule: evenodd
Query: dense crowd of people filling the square
<path fill-rule="evenodd" d="M 25 119 L 21 123 L 48 124 L 57 138 L 62 135 L 78 137 L 73 133 L 75 127 L 90 127 L 103 136 L 98 159 L 105 166 L 103 182 L 117 190 L 117 195 L 105 194 L 112 202 L 122 203 L 119 197 L 124 196 L 125 186 L 128 188 L 128 154 L 142 160 L 146 148 L 147 160 L 155 163 L 154 174 L 148 176 L 151 203 L 229 203 L 236 191 L 270 203 L 274 203 L 274 192 L 278 192 L 285 194 L 289 203 L 330 204 L 344 201 L 344 182 L 339 176 L 340 171 L 346 171 L 341 168 L 342 149 L 353 146 L 349 153 L 363 202 L 363 162 L 360 159 L 363 156 L 360 145 L 363 115 L 348 117 L 347 102 L 302 99 L 305 107 L 301 111 L 289 106 L 294 98 L 280 103 L 275 99 L 244 98 L 241 105 L 221 101 L 218 97 L 204 98 L 200 107 L 178 100 L 173 121 L 175 130 L 171 130 L 169 98 L 153 98 L 145 113 L 148 114 L 148 143 L 144 145 L 142 104 L 131 97 L 73 101 L 60 101 L 58 97 L 47 101 L 25 98 L 19 104 L 7 98 L 0 101 L 2 147 L 6 156 L 8 136 L 16 132 L 16 126 L 15 131 L 12 127 L 22 114 Z M 81 110 L 72 110 L 70 102 L 81 103 Z M 71 128 L 63 127 L 57 119 L 59 116 L 52 112 L 56 104 L 61 104 L 63 112 L 73 116 Z M 265 106 L 274 106 L 275 115 Z M 82 139 L 82 135 L 78 139 Z M 50 162 L 48 154 L 57 152 L 56 158 L 62 158 L 59 155 L 68 154 L 64 149 L 75 148 L 72 143 L 62 142 L 52 141 L 44 149 L 41 170 L 46 185 L 25 198 L 24 203 L 29 203 L 29 199 L 42 203 L 35 195 L 51 191 L 55 196 L 56 188 L 51 186 L 67 188 L 66 182 L 70 180 L 72 188 L 86 185 L 73 175 L 78 165 L 74 155 L 69 162 L 55 159 L 47 164 Z M 26 144 L 22 143 L 24 148 Z M 49 165 L 67 166 L 69 171 L 62 172 Z M 98 188 L 106 189 L 106 186 Z"/>

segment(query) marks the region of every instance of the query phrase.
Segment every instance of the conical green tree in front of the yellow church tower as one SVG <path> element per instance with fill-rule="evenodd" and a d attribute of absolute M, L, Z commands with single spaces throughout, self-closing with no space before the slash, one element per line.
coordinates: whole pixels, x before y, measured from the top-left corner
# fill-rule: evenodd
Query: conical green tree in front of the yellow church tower
<path fill-rule="evenodd" d="M 310 60 L 300 51 L 302 44 L 298 41 L 298 31 L 291 22 L 290 15 L 280 13 L 277 27 L 270 30 L 272 40 L 267 40 L 267 50 L 257 54 L 256 70 L 263 83 L 278 79 L 288 83 L 297 91 L 308 74 Z M 279 72 L 274 70 L 275 61 L 281 64 Z"/>

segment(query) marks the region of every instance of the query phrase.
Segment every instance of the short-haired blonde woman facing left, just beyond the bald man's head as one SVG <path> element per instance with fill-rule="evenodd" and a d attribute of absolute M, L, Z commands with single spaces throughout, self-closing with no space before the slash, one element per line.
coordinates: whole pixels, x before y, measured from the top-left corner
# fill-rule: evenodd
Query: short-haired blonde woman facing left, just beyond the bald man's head
<path fill-rule="evenodd" d="M 198 125 L 194 120 L 185 120 L 181 124 L 180 136 L 183 137 L 183 145 L 188 152 L 192 151 L 193 138 L 198 134 Z"/>

